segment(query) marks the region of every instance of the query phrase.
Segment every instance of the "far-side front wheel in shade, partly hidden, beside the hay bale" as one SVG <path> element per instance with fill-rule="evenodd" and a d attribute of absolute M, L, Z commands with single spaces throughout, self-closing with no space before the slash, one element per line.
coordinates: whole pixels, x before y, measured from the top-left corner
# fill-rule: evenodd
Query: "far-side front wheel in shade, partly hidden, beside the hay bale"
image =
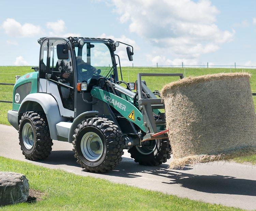
<path fill-rule="evenodd" d="M 171 158 L 171 145 L 168 139 L 148 141 L 148 146 L 133 146 L 128 150 L 136 163 L 155 166 L 165 163 Z"/>

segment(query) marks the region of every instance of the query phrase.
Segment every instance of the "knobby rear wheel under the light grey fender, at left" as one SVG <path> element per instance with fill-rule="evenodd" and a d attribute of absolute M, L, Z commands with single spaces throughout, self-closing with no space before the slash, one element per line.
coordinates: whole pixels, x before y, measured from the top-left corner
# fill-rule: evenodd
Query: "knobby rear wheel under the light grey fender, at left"
<path fill-rule="evenodd" d="M 43 160 L 53 145 L 46 116 L 43 112 L 28 111 L 19 120 L 19 144 L 28 160 Z"/>

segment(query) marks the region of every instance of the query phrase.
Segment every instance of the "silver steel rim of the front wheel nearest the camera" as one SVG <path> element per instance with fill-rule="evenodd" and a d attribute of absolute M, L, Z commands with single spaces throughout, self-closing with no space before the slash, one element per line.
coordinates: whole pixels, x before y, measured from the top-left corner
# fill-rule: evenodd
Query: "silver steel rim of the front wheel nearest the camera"
<path fill-rule="evenodd" d="M 81 139 L 81 151 L 83 156 L 95 162 L 99 160 L 103 154 L 103 142 L 99 135 L 94 132 L 87 132 Z"/>

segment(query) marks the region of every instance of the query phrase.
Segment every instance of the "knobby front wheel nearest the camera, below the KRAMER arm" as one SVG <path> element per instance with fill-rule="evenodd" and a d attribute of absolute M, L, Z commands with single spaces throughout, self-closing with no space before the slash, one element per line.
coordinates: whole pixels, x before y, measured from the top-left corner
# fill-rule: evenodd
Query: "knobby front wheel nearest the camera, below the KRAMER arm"
<path fill-rule="evenodd" d="M 87 172 L 107 172 L 122 160 L 122 132 L 107 118 L 94 117 L 82 121 L 73 137 L 74 156 Z"/>

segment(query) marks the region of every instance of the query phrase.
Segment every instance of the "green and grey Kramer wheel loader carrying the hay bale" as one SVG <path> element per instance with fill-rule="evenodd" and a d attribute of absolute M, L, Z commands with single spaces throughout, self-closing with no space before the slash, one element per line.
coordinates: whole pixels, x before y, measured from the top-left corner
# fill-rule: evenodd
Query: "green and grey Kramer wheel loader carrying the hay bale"
<path fill-rule="evenodd" d="M 124 149 L 141 165 L 170 158 L 164 103 L 141 77 L 182 74 L 143 73 L 127 83 L 115 51 L 125 45 L 132 61 L 131 45 L 87 37 L 42 37 L 38 43 L 39 66 L 16 81 L 7 114 L 27 159 L 47 158 L 52 140 L 72 143 L 77 163 L 93 173 L 114 169 Z"/>

